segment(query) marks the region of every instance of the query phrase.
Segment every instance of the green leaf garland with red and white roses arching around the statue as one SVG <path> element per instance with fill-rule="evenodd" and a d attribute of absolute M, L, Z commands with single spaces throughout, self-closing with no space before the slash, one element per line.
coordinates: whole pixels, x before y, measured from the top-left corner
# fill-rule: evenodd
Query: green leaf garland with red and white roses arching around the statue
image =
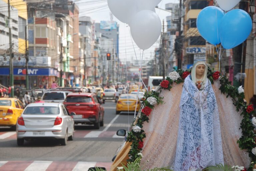
<path fill-rule="evenodd" d="M 132 142 L 129 151 L 128 162 L 133 162 L 139 157 L 139 154 L 144 146 L 143 139 L 146 137 L 143 128 L 143 123 L 149 122 L 149 115 L 154 109 L 155 105 L 163 103 L 163 98 L 160 96 L 162 90 L 171 90 L 173 83 L 183 83 L 185 78 L 191 74 L 191 70 L 177 70 L 169 74 L 166 80 L 162 81 L 160 86 L 155 91 L 149 91 L 144 94 L 142 100 L 142 107 L 139 111 L 137 118 L 132 123 L 132 130 L 128 132 L 127 141 Z M 220 78 L 221 93 L 226 94 L 226 97 L 231 97 L 237 111 L 241 112 L 243 119 L 241 121 L 240 129 L 242 129 L 242 137 L 237 141 L 241 149 L 247 149 L 252 162 L 256 162 L 256 136 L 254 134 L 254 126 L 250 120 L 251 115 L 256 114 L 252 105 L 246 105 L 244 102 L 244 90 L 240 86 L 236 88 L 231 85 L 231 82 L 226 76 L 220 77 L 220 72 L 208 67 L 207 78 L 214 84 L 215 80 Z M 253 154 L 255 152 L 255 154 Z M 250 170 L 253 167 L 250 166 Z"/>

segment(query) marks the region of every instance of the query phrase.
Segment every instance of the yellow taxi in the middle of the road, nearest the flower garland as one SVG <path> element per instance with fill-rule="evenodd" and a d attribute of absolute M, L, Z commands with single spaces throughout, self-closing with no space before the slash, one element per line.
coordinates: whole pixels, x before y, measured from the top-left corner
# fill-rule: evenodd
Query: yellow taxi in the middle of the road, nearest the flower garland
<path fill-rule="evenodd" d="M 136 102 L 137 108 L 136 108 Z M 119 99 L 116 103 L 116 114 L 119 114 L 120 112 L 134 112 L 136 108 L 136 112 L 139 112 L 140 110 L 140 100 L 137 99 L 137 96 L 135 94 L 121 94 Z"/>

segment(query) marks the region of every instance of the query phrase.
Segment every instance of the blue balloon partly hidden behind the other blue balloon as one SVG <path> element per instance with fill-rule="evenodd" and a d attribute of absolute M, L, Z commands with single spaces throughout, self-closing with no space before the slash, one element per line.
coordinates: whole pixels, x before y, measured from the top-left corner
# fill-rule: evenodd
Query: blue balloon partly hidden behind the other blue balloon
<path fill-rule="evenodd" d="M 196 26 L 201 36 L 210 44 L 220 44 L 220 22 L 224 11 L 215 6 L 209 6 L 200 11 Z"/>

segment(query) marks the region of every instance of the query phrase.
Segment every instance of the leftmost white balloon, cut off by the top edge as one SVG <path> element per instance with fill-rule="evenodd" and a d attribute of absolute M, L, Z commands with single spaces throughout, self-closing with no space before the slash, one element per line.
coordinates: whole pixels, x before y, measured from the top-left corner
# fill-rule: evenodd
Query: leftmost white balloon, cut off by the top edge
<path fill-rule="evenodd" d="M 108 7 L 118 20 L 128 23 L 137 13 L 137 0 L 108 0 Z"/>

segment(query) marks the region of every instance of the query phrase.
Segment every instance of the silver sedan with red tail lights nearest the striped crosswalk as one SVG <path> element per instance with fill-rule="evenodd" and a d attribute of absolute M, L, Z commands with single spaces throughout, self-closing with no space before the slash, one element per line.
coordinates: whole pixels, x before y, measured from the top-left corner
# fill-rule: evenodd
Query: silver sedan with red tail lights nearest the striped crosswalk
<path fill-rule="evenodd" d="M 73 140 L 74 120 L 61 103 L 31 103 L 18 118 L 16 133 L 18 145 L 40 138 L 58 139 L 66 145 Z"/>

